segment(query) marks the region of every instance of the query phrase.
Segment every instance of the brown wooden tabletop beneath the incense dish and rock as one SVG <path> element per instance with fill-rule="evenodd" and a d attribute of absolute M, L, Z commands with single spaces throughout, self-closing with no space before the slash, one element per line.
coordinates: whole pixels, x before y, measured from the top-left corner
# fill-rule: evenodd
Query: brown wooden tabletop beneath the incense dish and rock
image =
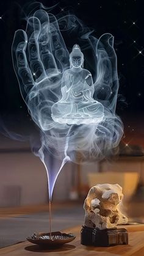
<path fill-rule="evenodd" d="M 80 230 L 81 227 L 73 227 L 71 229 L 63 230 L 66 233 L 74 233 L 76 239 L 69 244 L 65 244 L 59 249 L 44 249 L 31 244 L 28 241 L 15 244 L 13 246 L 0 249 L 0 255 L 7 256 L 24 256 L 24 255 L 69 255 L 69 256 L 84 256 L 84 255 L 132 255 L 143 256 L 144 255 L 144 224 L 120 226 L 125 227 L 129 232 L 129 244 L 123 246 L 113 247 L 93 247 L 82 246 L 80 243 Z"/>

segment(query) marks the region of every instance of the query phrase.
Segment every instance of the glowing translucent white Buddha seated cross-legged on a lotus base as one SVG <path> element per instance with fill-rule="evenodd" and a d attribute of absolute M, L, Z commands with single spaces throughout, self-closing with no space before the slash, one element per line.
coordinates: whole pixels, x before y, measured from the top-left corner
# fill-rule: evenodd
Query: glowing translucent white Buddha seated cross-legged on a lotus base
<path fill-rule="evenodd" d="M 93 99 L 95 92 L 91 73 L 82 68 L 84 54 L 74 45 L 70 68 L 63 73 L 62 97 L 52 106 L 55 122 L 71 124 L 99 123 L 104 119 L 103 104 Z"/>

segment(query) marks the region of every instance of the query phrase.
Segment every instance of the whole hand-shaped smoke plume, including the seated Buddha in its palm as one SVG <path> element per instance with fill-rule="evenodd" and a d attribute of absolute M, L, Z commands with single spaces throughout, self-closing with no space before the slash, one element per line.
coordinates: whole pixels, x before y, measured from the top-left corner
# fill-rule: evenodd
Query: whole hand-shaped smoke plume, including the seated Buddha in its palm
<path fill-rule="evenodd" d="M 75 45 L 79 52 L 69 54 L 59 29 L 62 24 L 69 34 L 79 27 L 81 38 L 76 40 L 85 40 L 93 54 L 93 78 L 82 68 L 79 46 Z M 16 31 L 13 40 L 13 67 L 21 94 L 41 131 L 38 155 L 48 174 L 50 200 L 60 170 L 67 161 L 76 162 L 76 152 L 81 152 L 83 161 L 103 159 L 123 134 L 115 115 L 118 76 L 113 37 L 104 34 L 98 40 L 91 34 L 84 32 L 76 16 L 57 20 L 38 10 L 27 20 L 26 31 Z M 59 169 L 51 168 L 51 157 L 60 159 Z"/>

